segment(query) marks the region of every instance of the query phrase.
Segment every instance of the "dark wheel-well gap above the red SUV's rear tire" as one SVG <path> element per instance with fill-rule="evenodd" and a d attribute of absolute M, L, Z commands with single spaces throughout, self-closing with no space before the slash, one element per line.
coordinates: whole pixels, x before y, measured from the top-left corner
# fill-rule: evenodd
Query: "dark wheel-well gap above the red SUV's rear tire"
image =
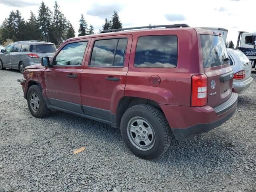
<path fill-rule="evenodd" d="M 126 112 L 128 108 L 138 104 L 149 104 L 151 106 L 158 108 L 160 111 L 163 111 L 160 105 L 154 100 L 150 100 L 147 98 L 140 98 L 140 97 L 124 96 L 119 100 L 118 106 L 116 108 L 116 127 L 117 128 L 120 128 L 120 122 L 121 122 L 122 116 L 124 115 L 124 112 Z"/>

